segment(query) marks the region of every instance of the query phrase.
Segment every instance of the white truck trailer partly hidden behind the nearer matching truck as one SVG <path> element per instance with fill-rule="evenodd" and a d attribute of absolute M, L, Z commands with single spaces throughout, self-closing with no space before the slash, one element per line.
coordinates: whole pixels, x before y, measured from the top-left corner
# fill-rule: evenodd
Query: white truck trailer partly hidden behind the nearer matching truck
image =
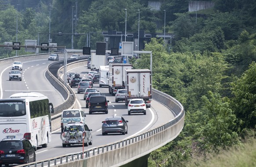
<path fill-rule="evenodd" d="M 124 89 L 125 70 L 132 69 L 131 64 L 109 64 L 109 93 L 115 95 L 117 89 Z"/>

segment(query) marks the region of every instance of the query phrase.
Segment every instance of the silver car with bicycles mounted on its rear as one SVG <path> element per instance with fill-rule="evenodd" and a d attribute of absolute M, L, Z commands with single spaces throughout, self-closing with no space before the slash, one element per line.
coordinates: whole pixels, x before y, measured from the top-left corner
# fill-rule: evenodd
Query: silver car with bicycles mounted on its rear
<path fill-rule="evenodd" d="M 91 129 L 85 123 L 68 123 L 61 133 L 62 147 L 67 145 L 92 145 Z M 83 141 L 84 139 L 84 141 Z"/>

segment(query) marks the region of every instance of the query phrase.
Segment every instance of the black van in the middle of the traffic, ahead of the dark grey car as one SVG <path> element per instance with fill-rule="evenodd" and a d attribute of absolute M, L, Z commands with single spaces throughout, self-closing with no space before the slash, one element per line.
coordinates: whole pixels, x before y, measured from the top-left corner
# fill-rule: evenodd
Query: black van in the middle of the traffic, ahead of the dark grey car
<path fill-rule="evenodd" d="M 89 100 L 89 114 L 102 112 L 108 113 L 108 102 L 105 95 L 91 96 Z"/>

